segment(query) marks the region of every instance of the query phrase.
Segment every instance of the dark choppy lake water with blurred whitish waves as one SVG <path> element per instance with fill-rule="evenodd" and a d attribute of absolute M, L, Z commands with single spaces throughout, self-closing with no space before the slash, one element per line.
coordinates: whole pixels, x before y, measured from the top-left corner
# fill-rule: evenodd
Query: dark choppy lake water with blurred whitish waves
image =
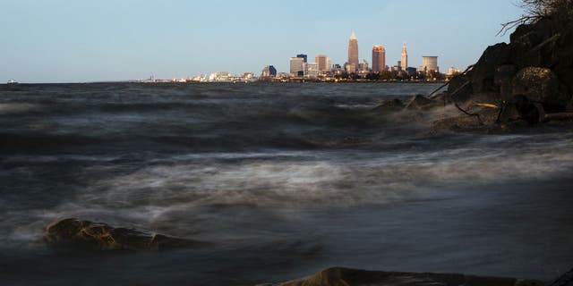
<path fill-rule="evenodd" d="M 329 266 L 552 279 L 573 133 L 430 136 L 422 84 L 0 86 L 0 281 L 253 285 Z M 77 217 L 209 241 L 62 254 Z"/>

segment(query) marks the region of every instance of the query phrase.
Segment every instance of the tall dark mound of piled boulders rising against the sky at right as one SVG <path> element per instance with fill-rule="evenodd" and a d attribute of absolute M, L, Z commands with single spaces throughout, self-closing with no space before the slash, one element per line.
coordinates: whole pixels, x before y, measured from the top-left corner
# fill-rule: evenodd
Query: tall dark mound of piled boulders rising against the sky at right
<path fill-rule="evenodd" d="M 462 108 L 494 106 L 500 124 L 573 118 L 564 114 L 573 112 L 573 21 L 555 16 L 517 27 L 509 44 L 489 46 L 448 92 Z"/>

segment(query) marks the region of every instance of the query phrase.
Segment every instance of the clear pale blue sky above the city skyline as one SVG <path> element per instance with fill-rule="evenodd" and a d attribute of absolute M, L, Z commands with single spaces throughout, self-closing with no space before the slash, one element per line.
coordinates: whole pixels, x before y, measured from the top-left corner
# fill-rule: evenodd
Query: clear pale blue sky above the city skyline
<path fill-rule="evenodd" d="M 522 13 L 517 0 L 0 0 L 0 82 L 186 78 L 289 70 L 297 54 L 360 60 L 386 47 L 387 64 L 408 47 L 409 66 L 439 56 L 464 70 Z"/>

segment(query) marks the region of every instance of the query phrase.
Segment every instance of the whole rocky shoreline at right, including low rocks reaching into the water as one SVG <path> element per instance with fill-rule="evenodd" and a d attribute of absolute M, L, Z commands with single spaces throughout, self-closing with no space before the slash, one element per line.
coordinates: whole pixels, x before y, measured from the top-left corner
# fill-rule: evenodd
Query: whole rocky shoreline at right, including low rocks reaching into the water
<path fill-rule="evenodd" d="M 506 132 L 548 122 L 573 122 L 573 20 L 543 17 L 520 25 L 509 44 L 489 46 L 446 92 L 390 100 L 377 111 L 429 111 L 453 105 L 433 130 Z"/>

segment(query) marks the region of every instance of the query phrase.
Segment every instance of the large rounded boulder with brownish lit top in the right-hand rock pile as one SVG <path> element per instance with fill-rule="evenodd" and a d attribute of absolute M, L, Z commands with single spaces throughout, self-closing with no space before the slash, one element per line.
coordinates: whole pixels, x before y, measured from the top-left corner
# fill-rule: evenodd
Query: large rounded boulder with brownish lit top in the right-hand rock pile
<path fill-rule="evenodd" d="M 548 110 L 564 111 L 569 104 L 567 89 L 550 69 L 527 67 L 517 71 L 512 80 L 512 94 L 524 95 Z"/>

